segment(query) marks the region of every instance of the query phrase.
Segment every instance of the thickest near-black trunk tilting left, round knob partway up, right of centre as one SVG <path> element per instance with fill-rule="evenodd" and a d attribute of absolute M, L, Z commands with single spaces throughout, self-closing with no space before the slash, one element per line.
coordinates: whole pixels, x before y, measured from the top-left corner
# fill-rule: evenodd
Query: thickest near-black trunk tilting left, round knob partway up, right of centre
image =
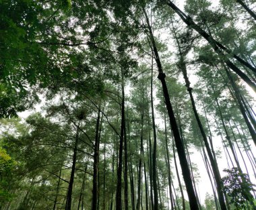
<path fill-rule="evenodd" d="M 172 133 L 173 133 L 173 136 L 174 136 L 174 140 L 175 140 L 175 144 L 176 144 L 176 147 L 177 147 L 177 152 L 178 152 L 179 160 L 180 160 L 180 164 L 181 164 L 181 170 L 183 172 L 183 178 L 184 178 L 184 181 L 185 181 L 185 185 L 186 185 L 186 188 L 187 188 L 187 194 L 188 194 L 188 197 L 189 197 L 189 205 L 190 205 L 191 209 L 198 210 L 199 207 L 198 207 L 198 204 L 197 204 L 197 199 L 195 197 L 195 191 L 193 189 L 193 183 L 192 183 L 191 176 L 190 176 L 189 165 L 188 165 L 187 159 L 186 159 L 185 148 L 182 144 L 181 136 L 179 134 L 179 128 L 178 128 L 178 125 L 177 125 L 177 122 L 176 122 L 176 119 L 175 119 L 175 116 L 174 116 L 174 111 L 172 109 L 172 105 L 170 103 L 170 97 L 169 97 L 169 93 L 168 93 L 168 89 L 167 89 L 167 85 L 166 85 L 166 81 L 165 81 L 166 75 L 164 74 L 164 72 L 162 70 L 162 64 L 160 62 L 160 58 L 159 58 L 159 55 L 158 55 L 158 50 L 156 48 L 156 42 L 154 40 L 154 35 L 152 33 L 152 29 L 151 29 L 151 26 L 150 26 L 150 21 L 148 19 L 148 15 L 147 15 L 145 10 L 143 12 L 144 12 L 144 15 L 146 17 L 147 24 L 148 24 L 148 30 L 150 32 L 150 41 L 151 41 L 151 44 L 152 44 L 152 50 L 154 52 L 156 64 L 158 66 L 158 73 L 159 73 L 158 74 L 158 79 L 162 83 L 162 91 L 163 91 L 164 100 L 165 100 L 165 103 L 166 103 L 166 109 L 168 111 L 170 125 L 171 125 L 171 128 L 172 128 Z M 153 158 L 153 160 L 154 160 L 154 158 Z M 154 176 L 154 174 L 153 174 L 153 176 Z M 155 203 L 155 205 L 156 205 L 156 203 Z M 158 210 L 158 209 L 156 209 L 156 207 L 155 207 L 154 210 Z"/>

